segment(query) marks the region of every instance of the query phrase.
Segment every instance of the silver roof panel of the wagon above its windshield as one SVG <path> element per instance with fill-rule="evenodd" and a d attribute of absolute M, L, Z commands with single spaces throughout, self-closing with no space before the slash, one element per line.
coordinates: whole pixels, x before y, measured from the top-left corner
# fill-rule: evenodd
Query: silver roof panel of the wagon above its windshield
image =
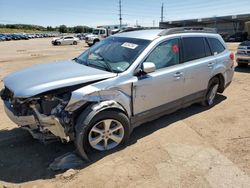
<path fill-rule="evenodd" d="M 159 37 L 159 34 L 162 32 L 162 29 L 149 29 L 149 30 L 140 30 L 140 31 L 130 31 L 125 33 L 115 34 L 115 37 L 128 37 L 128 38 L 137 38 L 145 40 L 154 40 Z"/>

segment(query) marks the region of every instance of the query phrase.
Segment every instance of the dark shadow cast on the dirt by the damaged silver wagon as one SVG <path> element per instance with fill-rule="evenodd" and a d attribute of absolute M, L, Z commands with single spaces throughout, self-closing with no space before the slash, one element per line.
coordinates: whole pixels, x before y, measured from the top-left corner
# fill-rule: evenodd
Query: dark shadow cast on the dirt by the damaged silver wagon
<path fill-rule="evenodd" d="M 218 95 L 215 104 L 218 105 L 226 99 L 223 95 Z M 166 128 L 176 121 L 183 120 L 189 116 L 209 110 L 194 104 L 184 109 L 180 109 L 170 115 L 163 116 L 152 122 L 145 123 L 134 129 L 128 145 L 136 144 L 141 138 L 148 136 L 159 129 Z M 4 135 L 15 135 L 20 129 L 0 130 L 0 138 Z M 13 137 L 9 141 L 0 143 L 0 181 L 8 183 L 24 183 L 38 179 L 52 179 L 64 171 L 51 171 L 48 166 L 55 158 L 67 153 L 74 152 L 74 144 L 62 144 L 54 142 L 47 145 L 34 140 L 29 134 L 23 132 L 25 137 Z M 126 146 L 125 146 L 126 147 Z M 90 162 L 85 162 L 78 169 L 84 169 L 103 157 L 118 152 L 125 147 L 103 153 L 92 153 L 89 155 Z"/>

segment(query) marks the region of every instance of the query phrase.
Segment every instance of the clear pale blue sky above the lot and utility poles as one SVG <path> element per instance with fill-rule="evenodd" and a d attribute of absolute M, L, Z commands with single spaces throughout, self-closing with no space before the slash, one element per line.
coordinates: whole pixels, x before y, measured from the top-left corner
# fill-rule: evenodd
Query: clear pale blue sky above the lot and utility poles
<path fill-rule="evenodd" d="M 250 13 L 250 0 L 121 0 L 123 24 Z M 119 0 L 0 0 L 0 23 L 67 26 L 119 24 Z"/>

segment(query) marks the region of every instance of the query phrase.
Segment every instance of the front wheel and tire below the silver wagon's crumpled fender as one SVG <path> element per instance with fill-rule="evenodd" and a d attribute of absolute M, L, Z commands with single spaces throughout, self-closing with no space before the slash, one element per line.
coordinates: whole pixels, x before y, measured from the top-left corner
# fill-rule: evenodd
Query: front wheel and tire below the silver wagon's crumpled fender
<path fill-rule="evenodd" d="M 75 147 L 77 149 L 77 152 L 83 158 L 84 154 L 82 153 L 84 153 L 84 151 L 89 153 L 93 151 L 101 152 L 101 151 L 113 150 L 118 148 L 119 146 L 126 144 L 127 141 L 129 140 L 130 123 L 128 117 L 124 113 L 116 110 L 105 110 L 95 115 L 90 120 L 90 123 L 88 125 L 84 125 L 85 118 L 86 114 L 82 113 L 77 119 L 75 127 L 76 131 Z M 104 123 L 104 121 L 110 122 L 109 124 L 110 129 L 108 129 L 109 134 L 105 132 L 107 129 L 105 129 L 106 123 Z M 115 128 L 119 129 L 111 132 L 111 130 L 112 129 L 115 130 Z M 115 142 L 112 139 L 114 138 L 113 137 L 114 135 L 115 138 L 117 138 L 117 142 Z M 100 141 L 97 142 L 96 145 L 94 145 L 93 143 L 96 140 L 96 138 L 98 138 L 98 140 Z M 120 142 L 118 142 L 118 138 L 120 139 Z M 107 140 L 106 147 L 105 147 L 105 140 Z"/>

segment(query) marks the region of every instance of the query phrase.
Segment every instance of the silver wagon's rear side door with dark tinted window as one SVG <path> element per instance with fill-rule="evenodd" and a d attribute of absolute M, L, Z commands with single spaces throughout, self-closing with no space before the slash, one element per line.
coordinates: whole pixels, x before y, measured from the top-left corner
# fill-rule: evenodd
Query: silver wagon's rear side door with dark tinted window
<path fill-rule="evenodd" d="M 202 97 L 207 89 L 216 59 L 205 37 L 182 37 L 185 67 L 184 102 Z"/>

